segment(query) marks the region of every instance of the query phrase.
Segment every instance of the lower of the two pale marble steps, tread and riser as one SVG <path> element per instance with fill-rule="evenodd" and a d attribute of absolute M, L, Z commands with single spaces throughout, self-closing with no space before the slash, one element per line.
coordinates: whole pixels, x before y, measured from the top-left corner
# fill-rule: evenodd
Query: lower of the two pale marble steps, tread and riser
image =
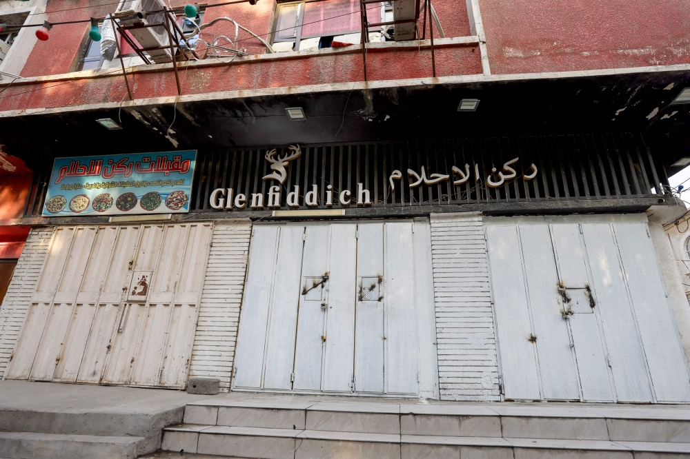
<path fill-rule="evenodd" d="M 175 425 L 164 430 L 164 451 L 262 459 L 321 458 L 664 458 L 688 457 L 690 443 L 611 442 L 478 436 Z"/>

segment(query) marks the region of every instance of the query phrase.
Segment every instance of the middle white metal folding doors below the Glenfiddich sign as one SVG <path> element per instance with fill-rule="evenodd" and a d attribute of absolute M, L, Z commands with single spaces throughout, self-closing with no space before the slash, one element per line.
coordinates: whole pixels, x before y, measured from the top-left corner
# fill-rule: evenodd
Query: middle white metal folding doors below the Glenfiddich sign
<path fill-rule="evenodd" d="M 255 225 L 233 389 L 433 394 L 429 246 L 428 220 Z"/>

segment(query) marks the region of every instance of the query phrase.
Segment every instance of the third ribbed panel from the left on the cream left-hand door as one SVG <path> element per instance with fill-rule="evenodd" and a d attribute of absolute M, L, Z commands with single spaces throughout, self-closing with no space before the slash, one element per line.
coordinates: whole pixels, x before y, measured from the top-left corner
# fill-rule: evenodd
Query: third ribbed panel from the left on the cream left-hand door
<path fill-rule="evenodd" d="M 94 315 L 98 309 L 99 293 L 108 273 L 117 230 L 118 228 L 115 226 L 99 227 L 98 229 L 81 288 L 77 295 L 75 312 L 72 314 L 70 327 L 60 353 L 60 360 L 55 369 L 55 380 L 71 383 L 77 380 L 86 343 L 94 323 Z"/>

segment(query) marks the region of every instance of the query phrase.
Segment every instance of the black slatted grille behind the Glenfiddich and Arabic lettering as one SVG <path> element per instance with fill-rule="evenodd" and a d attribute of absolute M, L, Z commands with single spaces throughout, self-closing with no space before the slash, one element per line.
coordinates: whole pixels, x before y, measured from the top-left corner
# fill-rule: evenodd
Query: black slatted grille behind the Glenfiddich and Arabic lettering
<path fill-rule="evenodd" d="M 318 185 L 319 208 L 326 208 L 326 185 L 333 186 L 333 207 L 343 207 L 337 196 L 349 190 L 356 200 L 357 184 L 362 183 L 371 194 L 371 207 L 406 205 L 444 205 L 464 203 L 506 203 L 544 199 L 573 200 L 649 196 L 652 189 L 661 190 L 651 153 L 638 133 L 578 134 L 562 136 L 489 137 L 454 141 L 376 142 L 347 145 L 301 145 L 302 156 L 286 167 L 287 179 L 281 187 L 281 205 L 286 195 L 299 185 L 300 203 L 304 194 Z M 270 170 L 264 159 L 268 148 L 200 152 L 193 194 L 194 211 L 214 211 L 209 196 L 216 188 L 233 188 L 235 195 L 264 194 L 277 181 L 262 180 Z M 277 148 L 278 154 L 288 153 L 287 147 Z M 517 177 L 499 187 L 490 187 L 487 177 L 495 167 L 519 158 L 513 167 Z M 463 172 L 470 165 L 471 178 L 462 185 L 453 185 L 455 165 Z M 475 164 L 480 181 L 475 181 Z M 531 165 L 537 176 L 524 180 Z M 447 174 L 450 179 L 433 185 L 409 185 L 415 179 L 408 169 L 426 176 Z M 395 180 L 393 170 L 402 172 Z M 662 175 L 662 174 L 661 174 Z M 499 178 L 492 174 L 492 180 Z M 245 210 L 250 210 L 248 208 Z M 224 212 L 218 210 L 217 212 Z M 242 212 L 235 209 L 233 212 Z"/>

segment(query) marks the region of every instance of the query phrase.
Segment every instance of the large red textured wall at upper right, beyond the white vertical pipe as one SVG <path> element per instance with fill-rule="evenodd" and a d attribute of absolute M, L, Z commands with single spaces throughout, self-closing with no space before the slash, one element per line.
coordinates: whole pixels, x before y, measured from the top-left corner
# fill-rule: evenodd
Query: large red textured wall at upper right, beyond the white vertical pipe
<path fill-rule="evenodd" d="M 690 63 L 687 0 L 480 0 L 492 73 Z"/>

